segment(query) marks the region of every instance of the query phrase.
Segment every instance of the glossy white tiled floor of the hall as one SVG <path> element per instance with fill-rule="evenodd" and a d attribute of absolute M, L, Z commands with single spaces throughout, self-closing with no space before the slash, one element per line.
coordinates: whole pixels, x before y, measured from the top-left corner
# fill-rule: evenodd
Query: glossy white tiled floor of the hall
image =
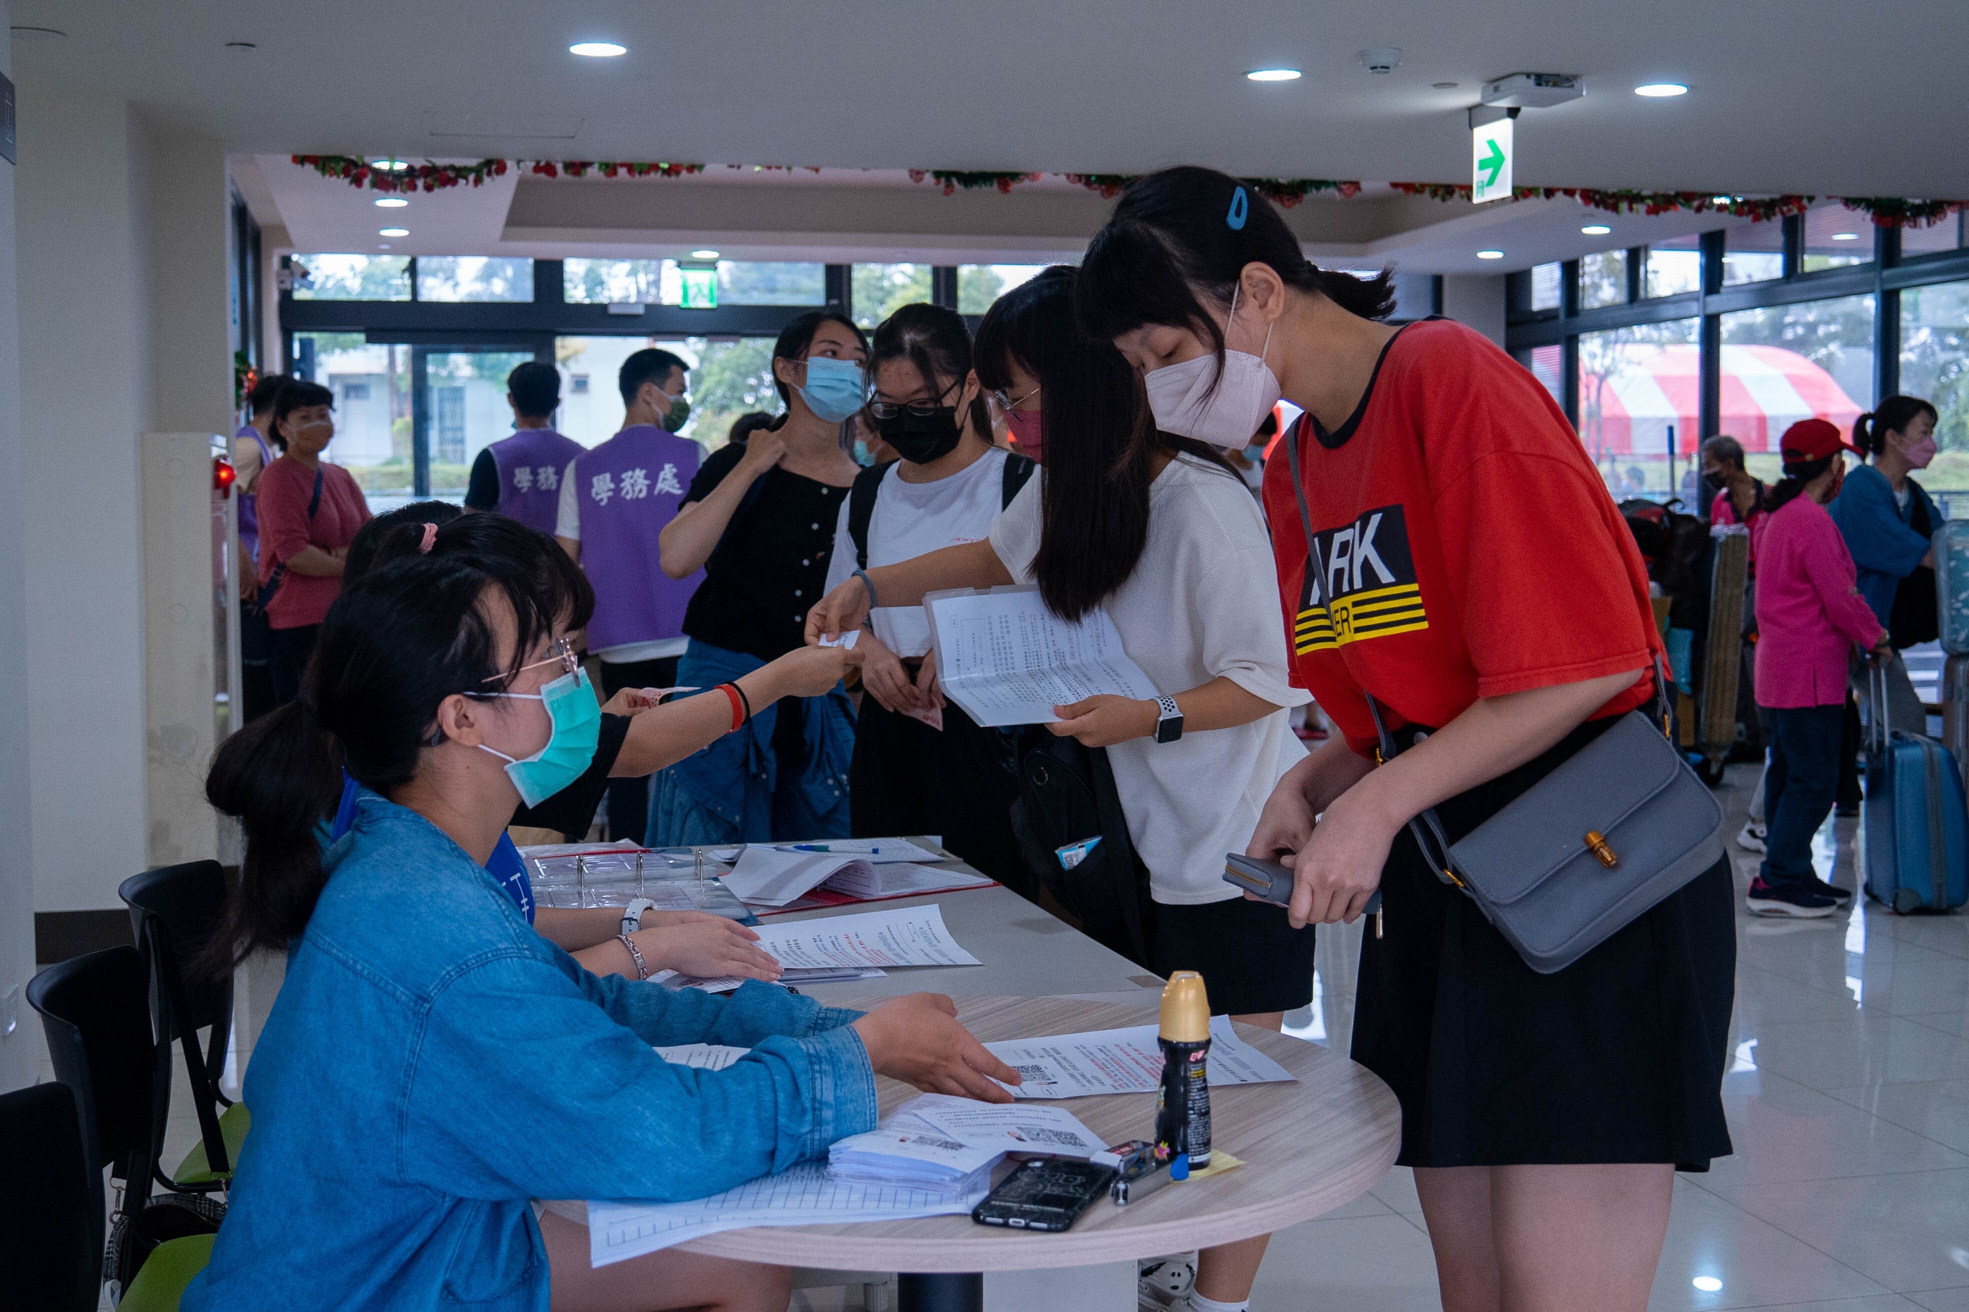
<path fill-rule="evenodd" d="M 1731 767 L 1731 834 L 1754 781 Z M 1859 822 L 1829 820 L 1819 873 L 1855 887 L 1857 840 Z M 1737 856 L 1741 887 L 1756 858 Z M 1969 1312 L 1969 915 L 1861 905 L 1813 923 L 1743 915 L 1739 930 L 1723 1090 L 1737 1153 L 1678 1176 L 1650 1306 Z M 1359 928 L 1321 932 L 1315 1007 L 1288 1017 L 1294 1033 L 1345 1046 L 1357 944 Z M 197 1141 L 181 1070 L 171 1111 L 175 1163 Z M 803 1290 L 795 1306 L 843 1304 Z M 1437 1308 L 1410 1174 L 1276 1235 L 1252 1306 Z"/>

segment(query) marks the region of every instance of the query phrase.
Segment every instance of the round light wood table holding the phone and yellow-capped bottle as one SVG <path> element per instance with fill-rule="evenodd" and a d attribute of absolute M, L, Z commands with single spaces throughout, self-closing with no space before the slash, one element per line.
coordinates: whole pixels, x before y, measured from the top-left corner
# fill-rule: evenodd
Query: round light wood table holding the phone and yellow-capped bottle
<path fill-rule="evenodd" d="M 1156 1021 L 1154 1005 L 1069 997 L 955 1001 L 963 1023 L 986 1043 Z M 898 1271 L 904 1273 L 902 1312 L 977 1312 L 984 1271 L 1089 1267 L 1248 1239 L 1331 1212 L 1386 1174 L 1402 1141 L 1402 1111 L 1386 1084 L 1319 1044 L 1248 1025 L 1239 1025 L 1237 1033 L 1298 1080 L 1211 1090 L 1211 1147 L 1244 1159 L 1227 1174 L 1172 1184 L 1126 1208 L 1101 1200 L 1061 1233 L 931 1216 L 853 1225 L 754 1225 L 679 1247 L 782 1267 Z M 894 1080 L 878 1078 L 876 1084 L 884 1115 L 916 1096 Z M 1071 1098 L 1063 1105 L 1107 1143 L 1154 1137 L 1154 1094 Z"/>

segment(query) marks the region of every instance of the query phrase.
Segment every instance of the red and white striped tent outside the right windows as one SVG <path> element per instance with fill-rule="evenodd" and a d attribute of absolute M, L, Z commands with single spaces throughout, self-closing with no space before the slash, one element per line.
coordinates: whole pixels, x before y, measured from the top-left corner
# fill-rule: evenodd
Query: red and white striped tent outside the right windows
<path fill-rule="evenodd" d="M 1579 380 L 1579 437 L 1587 450 L 1668 454 L 1668 425 L 1676 425 L 1676 454 L 1693 454 L 1701 433 L 1697 348 L 1630 344 L 1622 356 L 1605 378 Z M 1831 374 L 1784 346 L 1725 346 L 1721 401 L 1717 431 L 1745 450 L 1776 450 L 1800 419 L 1827 419 L 1845 433 L 1861 415 Z"/>

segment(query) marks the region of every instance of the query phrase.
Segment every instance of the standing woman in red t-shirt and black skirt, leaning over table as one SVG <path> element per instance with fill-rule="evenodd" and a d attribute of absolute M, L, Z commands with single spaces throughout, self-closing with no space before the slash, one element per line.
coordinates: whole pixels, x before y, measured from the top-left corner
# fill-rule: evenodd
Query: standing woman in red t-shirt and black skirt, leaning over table
<path fill-rule="evenodd" d="M 1272 604 L 1341 732 L 1280 781 L 1248 852 L 1294 867 L 1294 924 L 1384 899 L 1353 1054 L 1402 1102 L 1443 1308 L 1640 1312 L 1676 1164 L 1729 1153 L 1729 862 L 1538 974 L 1406 832 L 1435 806 L 1461 838 L 1654 696 L 1648 578 L 1605 482 L 1502 350 L 1382 323 L 1386 273 L 1315 268 L 1211 169 L 1128 187 L 1077 309 L 1162 429 L 1240 447 L 1278 399 L 1305 411 L 1266 468 Z M 1368 694 L 1398 749 L 1380 769 Z"/>

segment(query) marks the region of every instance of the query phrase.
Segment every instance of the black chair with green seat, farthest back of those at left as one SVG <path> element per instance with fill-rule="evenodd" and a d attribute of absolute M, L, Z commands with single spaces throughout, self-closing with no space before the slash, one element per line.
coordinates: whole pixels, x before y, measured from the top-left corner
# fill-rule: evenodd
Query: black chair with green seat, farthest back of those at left
<path fill-rule="evenodd" d="M 199 1145 L 169 1176 L 158 1182 L 173 1192 L 224 1188 L 252 1125 L 244 1103 L 219 1092 L 226 1039 L 232 1033 L 232 976 L 193 976 L 185 966 L 203 950 L 226 903 L 226 877 L 219 862 L 159 865 L 122 881 L 116 893 L 130 907 L 130 928 L 150 972 L 152 1027 L 158 1035 L 159 1129 L 171 1102 L 171 1041 L 185 1052 L 191 1107 L 199 1117 Z M 211 1029 L 205 1050 L 199 1031 Z"/>

